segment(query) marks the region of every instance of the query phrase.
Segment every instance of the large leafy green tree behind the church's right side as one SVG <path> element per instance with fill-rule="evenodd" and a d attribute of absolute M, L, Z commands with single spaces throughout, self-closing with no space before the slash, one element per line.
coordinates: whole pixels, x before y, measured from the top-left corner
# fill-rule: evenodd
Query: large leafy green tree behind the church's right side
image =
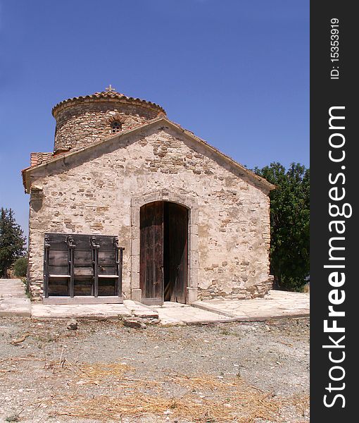
<path fill-rule="evenodd" d="M 271 163 L 254 172 L 276 185 L 270 192 L 270 271 L 275 285 L 301 290 L 309 274 L 310 170 Z"/>

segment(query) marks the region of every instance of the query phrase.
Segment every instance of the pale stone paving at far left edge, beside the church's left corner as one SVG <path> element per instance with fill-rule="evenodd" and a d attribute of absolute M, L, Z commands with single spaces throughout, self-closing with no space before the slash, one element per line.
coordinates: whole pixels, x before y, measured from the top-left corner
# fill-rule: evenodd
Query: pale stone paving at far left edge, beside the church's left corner
<path fill-rule="evenodd" d="M 0 316 L 31 315 L 31 302 L 20 279 L 0 279 Z"/>

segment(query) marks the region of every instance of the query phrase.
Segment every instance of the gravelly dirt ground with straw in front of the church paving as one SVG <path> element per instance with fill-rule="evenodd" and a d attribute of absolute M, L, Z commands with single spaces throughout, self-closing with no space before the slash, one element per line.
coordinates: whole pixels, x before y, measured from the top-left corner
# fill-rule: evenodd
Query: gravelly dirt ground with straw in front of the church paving
<path fill-rule="evenodd" d="M 307 318 L 146 329 L 78 320 L 77 330 L 0 319 L 4 422 L 299 423 L 308 395 Z"/>

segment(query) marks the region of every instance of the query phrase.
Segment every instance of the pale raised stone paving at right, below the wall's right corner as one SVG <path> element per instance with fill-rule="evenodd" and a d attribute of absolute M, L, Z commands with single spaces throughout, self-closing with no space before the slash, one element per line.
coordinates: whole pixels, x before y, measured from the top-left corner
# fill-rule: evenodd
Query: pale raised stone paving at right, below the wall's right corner
<path fill-rule="evenodd" d="M 310 295 L 270 290 L 265 298 L 196 301 L 192 306 L 233 317 L 238 321 L 304 317 L 310 314 Z"/>

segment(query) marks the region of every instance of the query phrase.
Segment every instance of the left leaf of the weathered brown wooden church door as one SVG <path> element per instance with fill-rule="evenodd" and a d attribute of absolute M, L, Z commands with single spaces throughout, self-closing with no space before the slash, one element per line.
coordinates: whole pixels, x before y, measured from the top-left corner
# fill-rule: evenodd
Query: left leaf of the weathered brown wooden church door
<path fill-rule="evenodd" d="M 140 209 L 139 287 L 142 302 L 163 304 L 163 202 Z"/>

